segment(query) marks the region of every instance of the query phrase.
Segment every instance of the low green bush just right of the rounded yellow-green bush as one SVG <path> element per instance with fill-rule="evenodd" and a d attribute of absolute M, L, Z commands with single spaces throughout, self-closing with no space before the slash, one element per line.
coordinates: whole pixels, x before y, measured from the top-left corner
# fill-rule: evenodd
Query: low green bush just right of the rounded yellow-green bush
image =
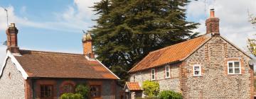
<path fill-rule="evenodd" d="M 181 93 L 176 93 L 174 91 L 161 91 L 159 97 L 160 99 L 182 99 Z"/>

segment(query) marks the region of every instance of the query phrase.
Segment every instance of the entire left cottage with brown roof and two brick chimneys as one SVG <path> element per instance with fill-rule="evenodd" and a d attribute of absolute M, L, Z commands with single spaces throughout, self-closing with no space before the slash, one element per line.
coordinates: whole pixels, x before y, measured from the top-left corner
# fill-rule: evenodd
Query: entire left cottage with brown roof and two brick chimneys
<path fill-rule="evenodd" d="M 20 50 L 18 30 L 6 30 L 7 55 L 1 67 L 0 98 L 57 99 L 86 84 L 90 98 L 119 98 L 116 75 L 95 59 L 90 33 L 82 37 L 83 54 Z"/>

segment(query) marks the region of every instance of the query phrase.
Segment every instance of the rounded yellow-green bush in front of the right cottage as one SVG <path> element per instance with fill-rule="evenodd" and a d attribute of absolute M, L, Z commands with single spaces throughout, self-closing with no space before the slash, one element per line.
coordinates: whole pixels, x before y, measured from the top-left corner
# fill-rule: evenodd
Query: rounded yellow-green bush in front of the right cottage
<path fill-rule="evenodd" d="M 157 96 L 160 90 L 158 82 L 149 81 L 149 80 L 146 80 L 142 83 L 142 88 L 143 88 L 144 94 L 149 97 Z"/>

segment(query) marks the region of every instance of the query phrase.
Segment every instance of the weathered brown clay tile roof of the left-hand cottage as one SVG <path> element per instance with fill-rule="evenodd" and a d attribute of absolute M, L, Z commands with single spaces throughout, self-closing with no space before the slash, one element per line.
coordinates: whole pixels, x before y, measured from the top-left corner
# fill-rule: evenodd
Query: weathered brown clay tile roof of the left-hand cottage
<path fill-rule="evenodd" d="M 97 60 L 82 54 L 20 50 L 15 56 L 28 77 L 118 79 Z"/>

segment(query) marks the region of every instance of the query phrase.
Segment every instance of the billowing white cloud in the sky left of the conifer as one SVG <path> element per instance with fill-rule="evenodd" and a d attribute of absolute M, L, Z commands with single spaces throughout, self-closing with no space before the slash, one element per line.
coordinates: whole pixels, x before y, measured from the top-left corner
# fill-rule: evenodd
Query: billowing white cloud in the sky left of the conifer
<path fill-rule="evenodd" d="M 14 13 L 14 6 L 9 6 L 9 23 L 16 23 L 20 26 L 32 27 L 32 28 L 45 28 L 50 30 L 61 30 L 61 31 L 80 31 L 88 30 L 93 22 L 92 18 L 96 16 L 93 14 L 93 4 L 100 0 L 75 0 L 75 6 L 68 6 L 64 12 L 53 12 L 55 13 L 55 21 L 31 21 L 26 17 L 16 16 Z M 26 13 L 26 6 L 22 6 L 20 9 L 21 13 Z M 0 30 L 6 29 L 6 12 L 0 9 Z"/>

